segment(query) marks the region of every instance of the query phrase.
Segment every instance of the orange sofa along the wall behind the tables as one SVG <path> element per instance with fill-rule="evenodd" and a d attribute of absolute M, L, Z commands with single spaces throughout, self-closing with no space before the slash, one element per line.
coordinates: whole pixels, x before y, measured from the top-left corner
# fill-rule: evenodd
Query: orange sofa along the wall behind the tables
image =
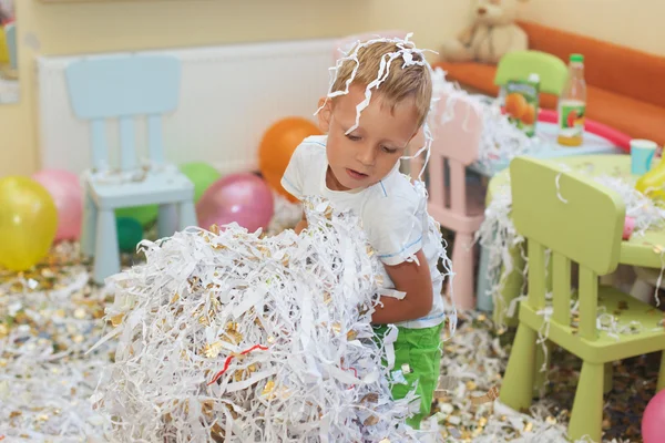
<path fill-rule="evenodd" d="M 529 35 L 529 49 L 554 54 L 567 63 L 571 53 L 584 54 L 587 85 L 586 116 L 634 138 L 665 145 L 665 56 L 538 23 L 519 21 Z M 497 96 L 495 65 L 434 62 L 447 79 L 461 86 Z M 541 94 L 541 107 L 556 109 L 556 96 Z"/>

